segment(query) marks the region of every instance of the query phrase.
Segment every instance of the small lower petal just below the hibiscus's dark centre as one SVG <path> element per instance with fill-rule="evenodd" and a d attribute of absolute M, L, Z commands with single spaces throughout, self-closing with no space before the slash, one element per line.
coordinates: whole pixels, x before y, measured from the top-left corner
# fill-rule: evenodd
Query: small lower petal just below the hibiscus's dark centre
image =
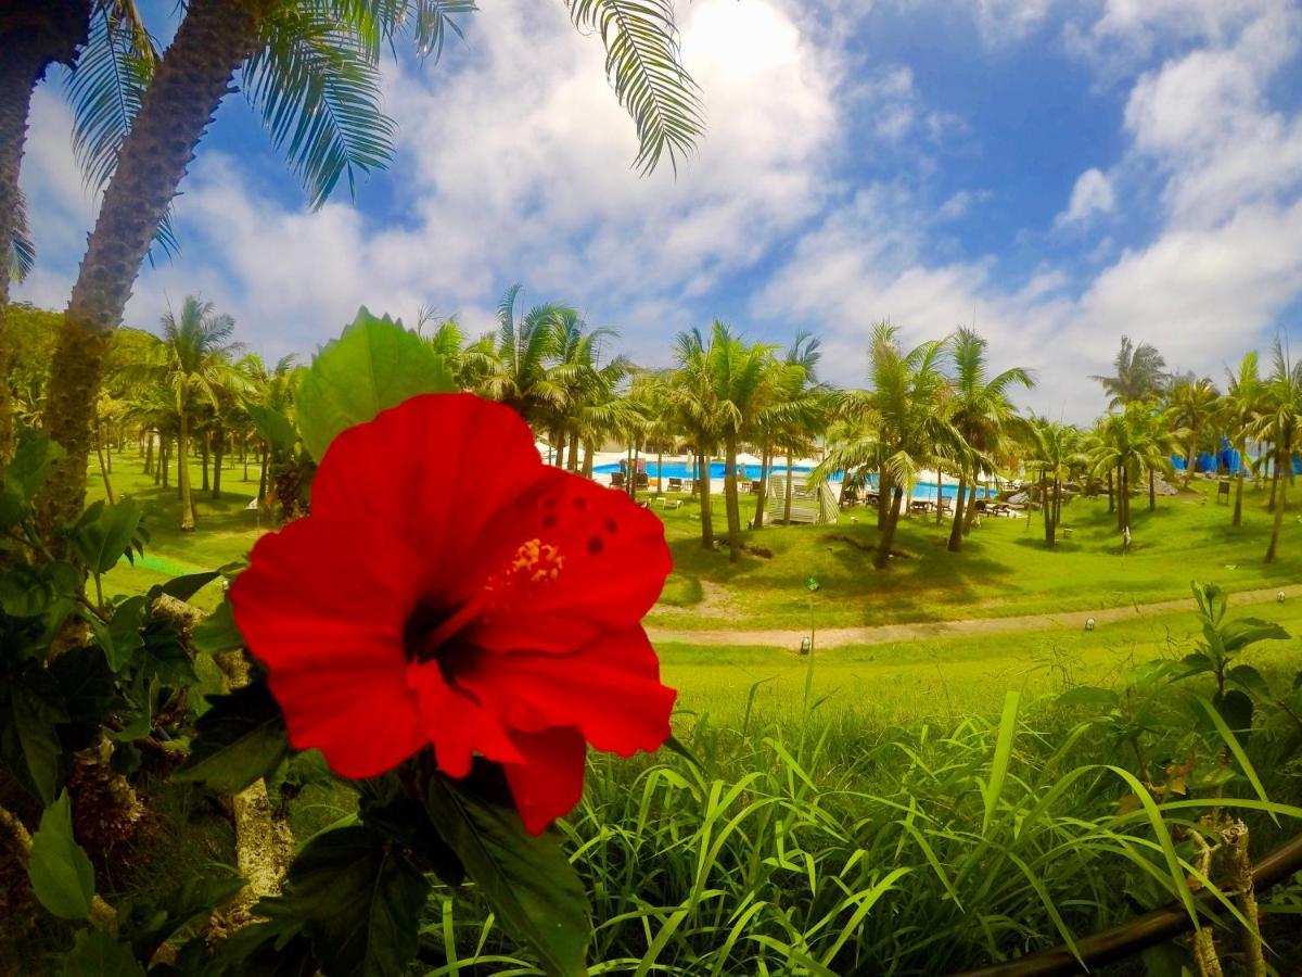
<path fill-rule="evenodd" d="M 413 663 L 408 684 L 421 700 L 426 736 L 434 744 L 439 769 L 448 776 L 469 774 L 475 753 L 497 762 L 521 762 L 500 719 L 465 692 L 448 685 L 436 662 Z"/>

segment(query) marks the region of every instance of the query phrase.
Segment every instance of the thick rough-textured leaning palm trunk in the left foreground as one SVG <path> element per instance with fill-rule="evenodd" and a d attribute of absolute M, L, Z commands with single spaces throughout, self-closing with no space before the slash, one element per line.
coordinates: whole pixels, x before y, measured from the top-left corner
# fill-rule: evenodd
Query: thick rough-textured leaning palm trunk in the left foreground
<path fill-rule="evenodd" d="M 46 427 L 66 457 L 42 488 L 43 534 L 81 512 L 86 495 L 90 417 L 113 330 L 132 294 L 168 205 L 234 70 L 260 46 L 260 5 L 191 0 L 122 141 L 59 330 Z M 180 452 L 184 455 L 184 452 Z"/>

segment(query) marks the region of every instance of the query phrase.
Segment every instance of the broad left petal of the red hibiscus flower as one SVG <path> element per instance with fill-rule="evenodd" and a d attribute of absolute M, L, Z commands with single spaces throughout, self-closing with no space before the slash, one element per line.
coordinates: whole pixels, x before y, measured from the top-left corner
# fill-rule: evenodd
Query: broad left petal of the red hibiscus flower
<path fill-rule="evenodd" d="M 380 526 L 322 516 L 264 535 L 230 588 L 271 672 L 289 741 L 342 776 L 375 776 L 426 744 L 402 627 L 421 563 Z"/>

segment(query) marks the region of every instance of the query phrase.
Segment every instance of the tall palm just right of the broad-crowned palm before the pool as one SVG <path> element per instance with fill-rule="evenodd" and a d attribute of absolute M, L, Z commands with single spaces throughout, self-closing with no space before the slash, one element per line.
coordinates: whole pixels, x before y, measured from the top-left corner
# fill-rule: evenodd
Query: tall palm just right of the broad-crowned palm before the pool
<path fill-rule="evenodd" d="M 1030 370 L 1013 366 L 995 376 L 990 375 L 986 361 L 987 343 L 974 330 L 961 327 L 950 340 L 950 357 L 954 374 L 950 380 L 950 423 L 962 435 L 963 451 L 956 459 L 958 464 L 958 494 L 954 499 L 954 522 L 949 530 L 949 550 L 962 548 L 963 533 L 970 517 L 965 521 L 965 505 L 975 511 L 976 478 L 982 470 L 995 468 L 993 457 L 1005 431 L 1014 418 L 1008 391 L 1014 386 L 1035 386 Z M 971 479 L 969 482 L 969 479 Z M 966 499 L 971 486 L 973 498 Z"/>

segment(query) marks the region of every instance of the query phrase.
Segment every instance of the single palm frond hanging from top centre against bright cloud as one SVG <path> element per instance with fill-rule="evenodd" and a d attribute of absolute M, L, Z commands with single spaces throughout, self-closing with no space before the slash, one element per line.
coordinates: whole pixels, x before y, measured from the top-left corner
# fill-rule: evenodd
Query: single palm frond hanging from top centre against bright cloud
<path fill-rule="evenodd" d="M 672 0 L 569 0 L 569 8 L 577 27 L 602 36 L 607 77 L 638 134 L 633 165 L 650 173 L 668 155 L 677 173 L 704 124 L 697 83 L 680 63 Z"/>

